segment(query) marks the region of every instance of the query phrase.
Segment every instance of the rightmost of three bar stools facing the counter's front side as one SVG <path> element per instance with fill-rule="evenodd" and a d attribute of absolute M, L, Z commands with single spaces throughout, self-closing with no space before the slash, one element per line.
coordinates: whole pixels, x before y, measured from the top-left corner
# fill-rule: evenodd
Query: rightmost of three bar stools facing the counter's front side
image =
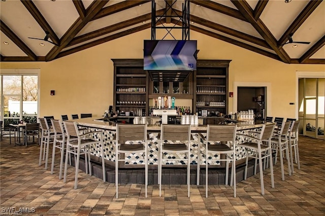
<path fill-rule="evenodd" d="M 226 161 L 225 185 L 228 185 L 229 163 L 232 162 L 231 185 L 234 183 L 234 197 L 236 197 L 236 125 L 208 125 L 205 145 L 205 175 L 206 175 L 206 198 L 208 198 L 208 165 L 212 161 Z M 222 143 L 226 142 L 226 143 Z M 213 154 L 225 155 L 225 159 L 212 159 Z"/>

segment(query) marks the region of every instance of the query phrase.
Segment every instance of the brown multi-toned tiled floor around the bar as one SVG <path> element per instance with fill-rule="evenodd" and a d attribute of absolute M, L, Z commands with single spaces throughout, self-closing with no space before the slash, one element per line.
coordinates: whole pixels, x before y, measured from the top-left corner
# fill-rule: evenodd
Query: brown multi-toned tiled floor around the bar
<path fill-rule="evenodd" d="M 275 188 L 266 170 L 264 196 L 257 174 L 237 184 L 236 198 L 224 185 L 210 185 L 208 198 L 202 185 L 191 185 L 190 198 L 186 185 L 165 185 L 161 197 L 158 186 L 149 185 L 145 198 L 144 185 L 129 184 L 119 187 L 116 199 L 114 184 L 80 171 L 75 190 L 74 167 L 68 168 L 68 182 L 63 184 L 57 166 L 54 174 L 44 164 L 38 166 L 38 145 L 14 147 L 4 138 L 0 214 L 20 209 L 35 211 L 32 215 L 325 215 L 325 141 L 301 136 L 299 145 L 301 170 L 295 166 L 295 173 L 282 181 L 278 162 Z"/>

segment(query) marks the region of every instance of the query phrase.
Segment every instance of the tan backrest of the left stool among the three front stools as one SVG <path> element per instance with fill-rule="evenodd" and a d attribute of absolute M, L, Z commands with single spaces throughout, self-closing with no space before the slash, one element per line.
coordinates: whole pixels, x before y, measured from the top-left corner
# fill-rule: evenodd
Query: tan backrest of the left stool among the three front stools
<path fill-rule="evenodd" d="M 130 125 L 117 124 L 116 125 L 116 140 L 118 143 L 125 143 L 125 141 L 147 140 L 147 125 Z"/>

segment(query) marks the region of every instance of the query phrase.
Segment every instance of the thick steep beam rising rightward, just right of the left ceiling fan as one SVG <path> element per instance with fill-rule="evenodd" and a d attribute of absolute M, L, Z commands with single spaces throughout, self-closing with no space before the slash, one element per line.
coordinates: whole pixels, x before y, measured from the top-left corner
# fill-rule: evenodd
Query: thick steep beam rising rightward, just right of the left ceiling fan
<path fill-rule="evenodd" d="M 79 31 L 85 27 L 85 25 L 108 3 L 109 1 L 93 1 L 87 9 L 87 13 L 84 19 L 80 17 L 74 22 L 74 24 L 68 29 L 62 36 L 60 46 L 54 46 L 51 51 L 46 55 L 46 61 L 55 59 L 56 55 L 66 47 L 73 38 L 79 33 Z"/>

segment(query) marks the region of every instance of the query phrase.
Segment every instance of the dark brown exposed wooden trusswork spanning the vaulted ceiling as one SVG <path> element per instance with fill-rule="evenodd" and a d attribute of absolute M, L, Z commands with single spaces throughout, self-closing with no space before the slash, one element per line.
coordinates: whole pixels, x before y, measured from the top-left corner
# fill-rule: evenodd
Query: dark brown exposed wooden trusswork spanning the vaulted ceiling
<path fill-rule="evenodd" d="M 69 0 L 70 1 L 70 0 Z M 113 1 L 113 0 L 111 0 Z M 281 0 L 282 1 L 282 0 Z M 283 0 L 284 1 L 284 0 Z M 91 30 L 86 33 L 81 33 L 91 22 L 100 22 L 102 18 L 112 16 L 117 13 L 127 13 L 128 10 L 137 9 L 139 5 L 151 4 L 150 0 L 147 1 L 121 1 L 112 5 L 109 5 L 109 0 L 105 1 L 93 1 L 89 6 L 85 6 L 83 1 L 71 0 L 74 5 L 75 12 L 79 17 L 70 26 L 69 29 L 58 37 L 54 26 L 51 26 L 47 20 L 45 14 L 42 14 L 42 10 L 37 7 L 35 1 L 20 1 L 25 7 L 28 13 L 34 17 L 38 25 L 43 31 L 49 32 L 49 39 L 59 45 L 53 46 L 46 55 L 39 56 L 33 51 L 22 38 L 15 33 L 15 30 L 11 28 L 9 24 L 5 22 L 6 17 L 1 17 L 1 31 L 11 40 L 24 54 L 25 56 L 7 56 L 1 52 L 1 61 L 51 61 L 69 54 L 96 46 L 114 39 L 123 37 L 128 34 L 132 34 L 151 27 L 149 22 L 151 19 L 151 12 L 135 16 L 133 18 L 115 22 L 107 26 Z M 35 3 L 34 3 L 35 2 Z M 159 20 L 159 22 L 174 23 L 175 25 L 182 26 L 179 20 L 176 20 L 173 16 L 180 16 L 182 12 L 173 7 L 175 0 L 165 0 L 165 7 L 161 7 L 156 10 L 156 16 L 167 15 L 166 18 Z M 313 14 L 317 7 L 324 7 L 322 1 L 309 1 L 305 7 L 296 15 L 294 21 L 288 23 L 288 27 L 283 31 L 280 37 L 275 37 L 273 32 L 262 21 L 262 16 L 267 10 L 268 4 L 271 1 L 263 0 L 258 1 L 254 9 L 249 5 L 247 1 L 230 1 L 234 7 L 229 7 L 224 4 L 218 3 L 218 1 L 202 1 L 191 0 L 191 7 L 200 7 L 205 10 L 209 10 L 212 13 L 222 14 L 230 16 L 252 26 L 258 35 L 252 35 L 245 33 L 241 30 L 232 28 L 231 26 L 225 26 L 223 24 L 211 21 L 210 19 L 198 16 L 195 13 L 190 13 L 190 29 L 197 31 L 218 40 L 222 40 L 244 49 L 251 50 L 253 52 L 268 56 L 270 58 L 282 61 L 284 63 L 304 63 L 304 64 L 325 64 L 325 57 L 323 58 L 311 58 L 319 50 L 324 49 L 325 35 L 317 39 L 315 43 L 312 43 L 310 47 L 298 58 L 290 57 L 290 55 L 284 49 L 284 44 L 288 40 L 290 33 L 296 33 L 298 29 L 304 24 L 304 22 Z M 7 2 L 1 2 L 6 4 Z M 322 4 L 320 6 L 320 4 Z M 320 22 L 325 22 L 320 20 Z M 139 24 L 140 23 L 140 24 Z M 157 23 L 159 24 L 159 23 Z M 279 38 L 278 40 L 276 38 Z M 2 42 L 3 43 L 3 42 Z M 2 44 L 2 47 L 4 45 Z M 324 54 L 325 56 L 325 54 Z"/>

